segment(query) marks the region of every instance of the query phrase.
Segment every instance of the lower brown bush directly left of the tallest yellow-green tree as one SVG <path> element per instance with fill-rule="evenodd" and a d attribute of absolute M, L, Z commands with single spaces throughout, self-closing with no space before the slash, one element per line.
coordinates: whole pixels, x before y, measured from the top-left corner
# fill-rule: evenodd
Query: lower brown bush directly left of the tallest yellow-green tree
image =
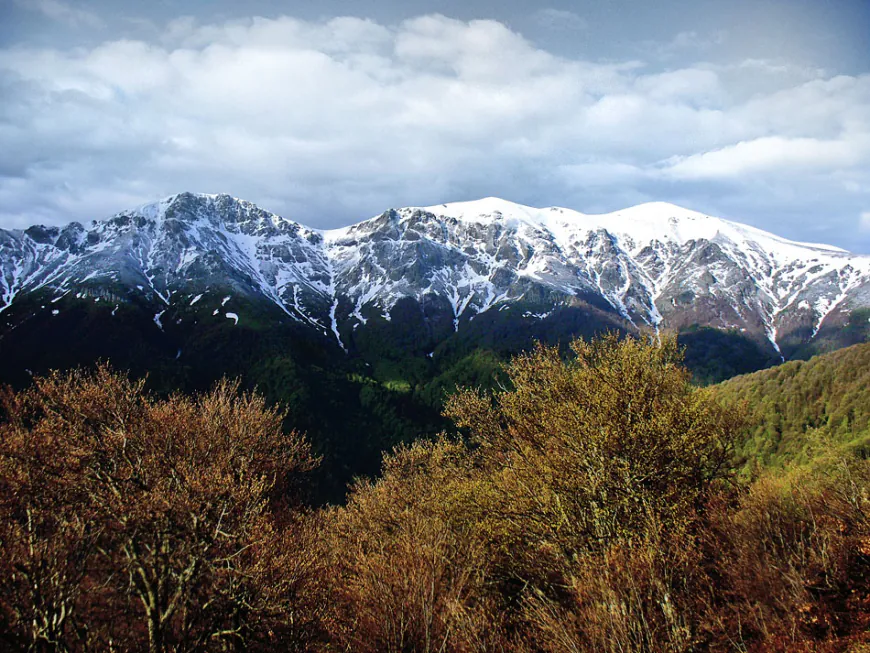
<path fill-rule="evenodd" d="M 498 650 L 485 552 L 444 490 L 463 482 L 463 446 L 400 449 L 377 483 L 360 482 L 332 514 L 333 641 L 352 651 Z M 461 509 L 461 506 L 458 506 Z"/>

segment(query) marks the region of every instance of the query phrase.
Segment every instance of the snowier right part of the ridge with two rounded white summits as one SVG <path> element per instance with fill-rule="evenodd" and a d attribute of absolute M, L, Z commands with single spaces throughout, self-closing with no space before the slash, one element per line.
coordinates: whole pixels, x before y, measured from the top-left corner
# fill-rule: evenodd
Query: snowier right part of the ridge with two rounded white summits
<path fill-rule="evenodd" d="M 603 300 L 635 326 L 739 329 L 779 351 L 870 303 L 868 257 L 663 203 L 584 215 L 490 198 L 387 212 L 326 236 L 357 312 L 434 292 L 457 326 L 538 287 L 545 304 Z"/>

